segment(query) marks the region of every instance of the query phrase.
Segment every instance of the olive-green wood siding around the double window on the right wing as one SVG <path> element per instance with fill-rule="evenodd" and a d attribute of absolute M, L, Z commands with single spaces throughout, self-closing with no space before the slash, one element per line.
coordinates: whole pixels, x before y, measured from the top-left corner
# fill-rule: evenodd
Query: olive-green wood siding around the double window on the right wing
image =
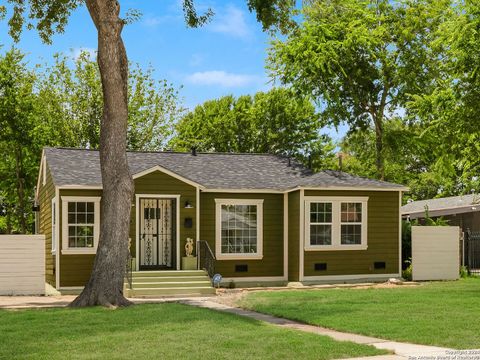
<path fill-rule="evenodd" d="M 305 251 L 305 276 L 398 273 L 400 211 L 398 192 L 305 191 L 305 196 L 368 196 L 368 249 Z M 386 268 L 375 270 L 376 261 L 384 261 Z M 327 263 L 326 271 L 314 270 L 314 264 L 319 262 Z"/>

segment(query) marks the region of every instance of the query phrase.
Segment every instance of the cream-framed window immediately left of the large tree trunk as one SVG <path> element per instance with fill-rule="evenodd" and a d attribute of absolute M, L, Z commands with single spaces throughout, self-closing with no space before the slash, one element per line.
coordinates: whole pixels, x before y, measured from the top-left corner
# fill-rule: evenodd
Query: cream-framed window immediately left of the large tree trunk
<path fill-rule="evenodd" d="M 99 223 L 99 197 L 62 196 L 62 253 L 94 254 Z"/>

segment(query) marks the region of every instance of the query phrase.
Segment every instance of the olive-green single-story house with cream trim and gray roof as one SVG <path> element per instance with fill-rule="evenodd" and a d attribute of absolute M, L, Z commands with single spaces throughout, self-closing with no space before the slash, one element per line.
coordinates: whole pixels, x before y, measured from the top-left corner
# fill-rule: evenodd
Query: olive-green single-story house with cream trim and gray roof
<path fill-rule="evenodd" d="M 187 238 L 194 253 L 208 244 L 227 285 L 400 276 L 401 185 L 313 173 L 269 154 L 128 152 L 128 163 L 134 278 L 185 271 L 176 282 L 187 279 Z M 47 242 L 46 281 L 57 289 L 89 278 L 101 197 L 97 151 L 43 150 L 37 223 Z"/>

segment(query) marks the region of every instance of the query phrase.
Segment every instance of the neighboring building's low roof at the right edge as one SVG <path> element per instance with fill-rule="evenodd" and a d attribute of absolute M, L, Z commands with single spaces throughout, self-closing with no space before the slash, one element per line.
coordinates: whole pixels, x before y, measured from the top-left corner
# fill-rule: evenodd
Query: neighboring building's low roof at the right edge
<path fill-rule="evenodd" d="M 438 199 L 412 201 L 401 207 L 403 215 L 425 213 L 425 206 L 428 206 L 430 212 L 451 209 L 451 213 L 456 213 L 455 209 L 472 207 L 480 204 L 480 194 L 468 194 L 460 196 L 450 196 Z"/>

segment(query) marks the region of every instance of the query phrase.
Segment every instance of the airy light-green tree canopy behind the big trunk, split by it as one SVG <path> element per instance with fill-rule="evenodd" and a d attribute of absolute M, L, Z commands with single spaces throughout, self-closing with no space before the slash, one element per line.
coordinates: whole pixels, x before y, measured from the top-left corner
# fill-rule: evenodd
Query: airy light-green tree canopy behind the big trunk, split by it
<path fill-rule="evenodd" d="M 166 80 L 156 80 L 152 68 L 130 67 L 127 146 L 130 150 L 160 150 L 183 113 L 179 92 Z M 91 54 L 81 52 L 74 59 L 56 54 L 54 65 L 38 71 L 37 76 L 39 101 L 48 121 L 55 122 L 52 130 L 58 139 L 63 138 L 62 145 L 98 149 L 103 95 L 98 65 Z"/>

